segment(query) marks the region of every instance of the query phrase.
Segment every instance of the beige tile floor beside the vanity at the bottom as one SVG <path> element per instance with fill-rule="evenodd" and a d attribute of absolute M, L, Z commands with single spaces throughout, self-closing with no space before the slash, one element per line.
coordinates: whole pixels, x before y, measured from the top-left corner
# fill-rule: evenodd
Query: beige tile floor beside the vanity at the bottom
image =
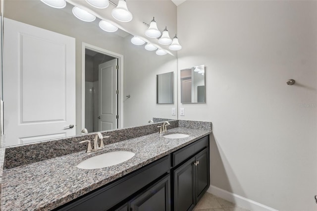
<path fill-rule="evenodd" d="M 203 196 L 194 208 L 194 211 L 249 211 L 236 207 L 233 203 L 216 197 L 208 192 Z"/>

